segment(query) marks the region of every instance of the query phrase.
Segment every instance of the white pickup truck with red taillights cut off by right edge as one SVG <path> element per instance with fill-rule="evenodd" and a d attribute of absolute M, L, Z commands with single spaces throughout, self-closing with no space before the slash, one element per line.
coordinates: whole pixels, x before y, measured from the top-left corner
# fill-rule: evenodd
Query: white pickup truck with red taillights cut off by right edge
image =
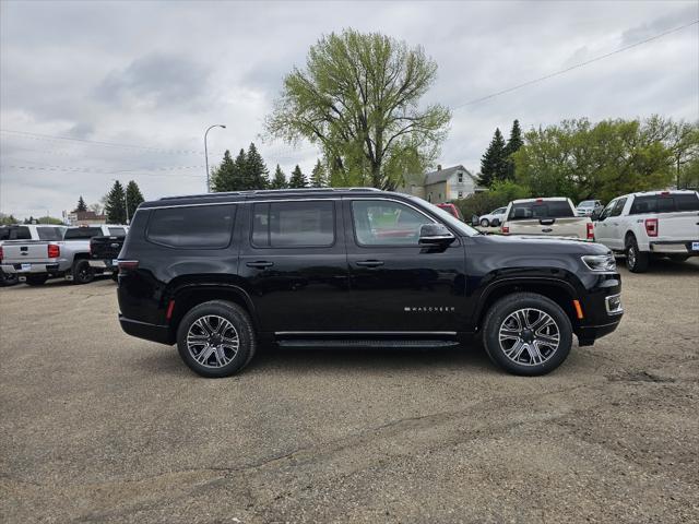
<path fill-rule="evenodd" d="M 684 262 L 699 257 L 699 193 L 645 191 L 617 196 L 594 228 L 595 240 L 626 253 L 635 273 L 648 270 L 652 257 Z"/>

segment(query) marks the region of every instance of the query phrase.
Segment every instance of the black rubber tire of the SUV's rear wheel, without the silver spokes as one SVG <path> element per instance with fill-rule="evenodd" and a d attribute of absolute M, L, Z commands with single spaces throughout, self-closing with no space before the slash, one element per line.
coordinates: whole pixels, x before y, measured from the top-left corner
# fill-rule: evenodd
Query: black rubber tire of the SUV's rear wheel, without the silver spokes
<path fill-rule="evenodd" d="M 211 353 L 210 357 L 206 358 L 206 362 L 209 362 L 209 365 L 201 364 L 194 358 L 194 355 L 200 356 L 205 348 L 202 347 L 202 349 L 197 352 L 197 348 L 194 347 L 192 349 L 194 354 L 192 354 L 187 344 L 187 337 L 190 329 L 192 331 L 200 330 L 194 325 L 196 322 L 208 315 L 225 319 L 232 324 L 238 336 L 239 345 L 237 352 L 234 355 L 230 355 L 230 349 L 228 349 L 229 353 L 226 356 L 232 359 L 223 366 L 214 365 L 214 361 L 218 362 L 216 352 Z M 203 331 L 198 332 L 203 333 Z M 248 313 L 242 308 L 233 302 L 212 300 L 210 302 L 203 302 L 199 306 L 194 306 L 185 314 L 177 327 L 177 350 L 179 352 L 179 356 L 192 371 L 202 377 L 218 379 L 237 373 L 245 368 L 250 360 L 252 360 L 256 349 L 257 337 L 250 317 L 248 317 Z"/>

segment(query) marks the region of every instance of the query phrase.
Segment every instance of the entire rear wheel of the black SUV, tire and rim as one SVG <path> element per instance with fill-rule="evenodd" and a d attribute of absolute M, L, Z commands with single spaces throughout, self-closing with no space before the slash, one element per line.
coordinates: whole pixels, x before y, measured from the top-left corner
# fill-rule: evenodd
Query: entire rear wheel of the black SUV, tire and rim
<path fill-rule="evenodd" d="M 202 377 L 237 373 L 252 359 L 256 347 L 248 314 L 239 306 L 223 300 L 193 307 L 177 329 L 180 357 Z"/>

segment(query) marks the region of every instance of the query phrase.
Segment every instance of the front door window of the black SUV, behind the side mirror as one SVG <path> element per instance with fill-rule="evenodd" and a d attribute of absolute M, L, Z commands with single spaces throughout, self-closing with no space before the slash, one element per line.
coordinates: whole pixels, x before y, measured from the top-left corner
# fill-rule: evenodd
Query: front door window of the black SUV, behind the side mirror
<path fill-rule="evenodd" d="M 423 224 L 435 221 L 399 202 L 356 200 L 352 216 L 363 246 L 416 246 Z"/>

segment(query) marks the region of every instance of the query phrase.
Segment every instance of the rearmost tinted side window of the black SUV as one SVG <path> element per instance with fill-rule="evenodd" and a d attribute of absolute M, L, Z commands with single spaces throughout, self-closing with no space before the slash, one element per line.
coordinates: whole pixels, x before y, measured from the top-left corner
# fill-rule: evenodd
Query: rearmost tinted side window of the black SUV
<path fill-rule="evenodd" d="M 171 248 L 226 248 L 230 243 L 235 214 L 235 205 L 154 210 L 146 238 Z"/>

